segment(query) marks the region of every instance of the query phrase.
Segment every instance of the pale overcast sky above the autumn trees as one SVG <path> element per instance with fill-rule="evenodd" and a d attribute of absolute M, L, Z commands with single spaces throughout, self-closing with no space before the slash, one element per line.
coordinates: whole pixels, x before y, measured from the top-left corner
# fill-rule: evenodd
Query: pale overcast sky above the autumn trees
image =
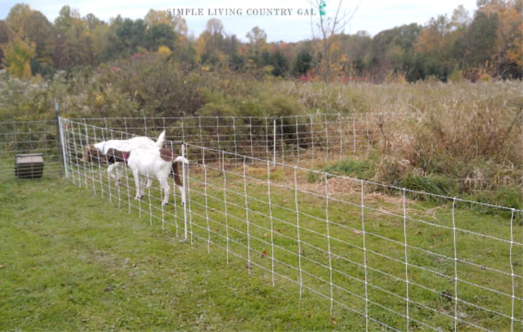
<path fill-rule="evenodd" d="M 315 0 L 311 0 L 315 2 Z M 326 4 L 326 15 L 334 16 L 337 0 L 324 0 Z M 9 9 L 20 1 L 0 0 L 0 18 L 4 19 Z M 167 8 L 203 8 L 202 16 L 185 15 L 189 33 L 198 36 L 205 28 L 207 20 L 211 17 L 219 18 L 228 34 L 235 34 L 238 38 L 246 40 L 245 35 L 255 26 L 259 26 L 267 33 L 269 41 L 298 41 L 311 38 L 310 16 L 299 16 L 298 8 L 310 8 L 308 0 L 26 0 L 32 9 L 40 10 L 50 21 L 59 15 L 60 8 L 70 5 L 71 8 L 79 10 L 83 17 L 88 13 L 95 14 L 98 18 L 108 21 L 111 17 L 120 14 L 124 18 L 143 18 L 149 9 L 166 10 Z M 357 1 L 345 0 L 344 6 L 348 11 L 354 10 Z M 469 10 L 472 16 L 476 9 L 476 0 L 365 0 L 361 1 L 359 8 L 345 33 L 354 34 L 358 30 L 366 30 L 374 36 L 378 32 L 390 29 L 402 24 L 418 23 L 425 24 L 431 17 L 439 14 L 452 15 L 452 10 L 462 4 Z M 236 16 L 208 16 L 208 10 L 214 8 L 242 8 L 242 15 Z M 261 16 L 247 15 L 247 9 L 260 8 L 292 8 L 290 16 Z M 316 8 L 315 8 L 316 9 Z M 317 18 L 317 17 L 316 17 Z"/>

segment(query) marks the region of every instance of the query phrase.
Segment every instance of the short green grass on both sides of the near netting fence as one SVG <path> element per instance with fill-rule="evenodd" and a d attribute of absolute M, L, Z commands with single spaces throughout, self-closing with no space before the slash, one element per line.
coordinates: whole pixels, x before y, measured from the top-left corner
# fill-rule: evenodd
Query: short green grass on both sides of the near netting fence
<path fill-rule="evenodd" d="M 361 265 L 362 251 L 358 249 L 362 245 L 361 208 L 335 201 L 359 204 L 358 188 L 329 179 L 329 195 L 334 199 L 328 207 L 329 220 L 332 220 L 332 282 L 336 285 L 331 316 L 330 287 L 325 282 L 330 277 L 325 267 L 328 264 L 326 227 L 325 222 L 319 221 L 325 218 L 325 198 L 298 195 L 300 211 L 319 218 L 300 216 L 303 243 L 300 256 L 305 287 L 299 300 L 299 255 L 296 228 L 292 226 L 296 222 L 292 212 L 295 197 L 289 189 L 293 185 L 292 173 L 285 169 L 271 170 L 271 181 L 288 187 L 271 186 L 273 205 L 269 211 L 265 203 L 267 184 L 260 181 L 266 176 L 266 168 L 247 168 L 247 175 L 252 177 L 245 186 L 249 197 L 247 237 L 242 195 L 245 188 L 238 175 L 242 170 L 232 166 L 228 169 L 228 218 L 225 219 L 221 172 L 212 170 L 211 166 L 207 181 L 203 181 L 206 176 L 203 170 L 191 168 L 192 246 L 190 241 L 179 241 L 173 225 L 166 225 L 162 230 L 158 223 L 159 202 L 153 200 L 153 206 L 157 207 L 152 210 L 155 217 L 151 218 L 153 226 L 150 226 L 146 201 L 141 203 L 144 213 L 140 219 L 134 208 L 127 213 L 126 191 L 122 190 L 124 199 L 118 209 L 115 187 L 112 187 L 114 202 L 111 205 L 107 200 L 106 180 L 97 182 L 89 173 L 87 178 L 82 178 L 82 182 L 87 181 L 86 187 L 55 178 L 2 182 L 0 317 L 3 318 L 0 330 L 365 330 L 365 316 L 355 313 L 366 310 L 362 300 L 365 285 L 361 282 L 365 280 L 365 269 Z M 308 177 L 305 172 L 298 173 L 299 182 L 306 184 L 303 189 L 320 193 L 322 182 L 309 183 Z M 100 197 L 100 187 L 104 187 L 104 199 Z M 130 192 L 133 195 L 132 186 Z M 379 322 L 405 330 L 406 319 L 402 316 L 405 302 L 401 298 L 406 293 L 402 281 L 405 276 L 404 246 L 401 245 L 403 218 L 390 214 L 402 215 L 402 199 L 369 191 L 365 202 L 369 234 L 368 313 Z M 430 220 L 440 226 L 452 225 L 450 207 L 410 199 L 406 202 L 411 218 Z M 179 214 L 181 206 L 177 208 Z M 173 214 L 173 210 L 174 207 L 169 206 L 164 212 Z M 272 234 L 269 214 L 273 216 Z M 466 206 L 456 209 L 455 216 L 458 228 L 509 238 L 507 216 L 479 213 Z M 229 228 L 229 264 L 226 264 L 225 251 L 214 246 L 228 245 L 224 225 Z M 454 264 L 445 258 L 453 257 L 452 230 L 410 223 L 406 231 L 409 245 L 436 253 L 408 248 L 408 260 L 412 264 L 408 274 L 413 283 L 409 287 L 413 301 L 410 328 L 428 330 L 426 325 L 429 325 L 453 330 L 454 283 L 447 276 L 454 276 Z M 521 242 L 521 234 L 519 223 L 515 225 L 514 240 Z M 275 245 L 275 286 L 272 286 L 270 271 L 271 238 Z M 210 246 L 210 253 L 207 253 L 208 239 L 214 244 Z M 469 233 L 458 234 L 457 246 L 458 257 L 469 262 L 458 262 L 459 279 L 474 284 L 459 283 L 458 297 L 467 303 L 458 304 L 458 317 L 487 329 L 509 330 L 509 318 L 477 308 L 482 306 L 510 315 L 509 298 L 496 293 L 511 294 L 510 277 L 496 271 L 510 272 L 509 246 Z M 250 267 L 238 258 L 247 256 L 251 259 Z M 513 251 L 516 274 L 521 271 L 520 257 L 521 247 L 516 246 Z M 516 296 L 522 290 L 521 279 L 516 279 Z M 522 301 L 517 298 L 515 317 L 521 320 L 522 316 Z M 459 322 L 458 328 L 476 330 L 474 325 Z M 369 320 L 370 330 L 382 328 Z M 514 330 L 521 328 L 521 323 L 516 321 Z"/>

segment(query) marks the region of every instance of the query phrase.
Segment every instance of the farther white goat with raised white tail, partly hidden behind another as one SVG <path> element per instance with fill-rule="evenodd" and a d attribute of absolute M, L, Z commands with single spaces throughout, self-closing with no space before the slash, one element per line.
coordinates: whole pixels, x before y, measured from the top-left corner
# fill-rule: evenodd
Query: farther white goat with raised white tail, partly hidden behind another
<path fill-rule="evenodd" d="M 105 156 L 109 149 L 116 149 L 119 151 L 132 151 L 133 149 L 159 149 L 163 147 L 165 139 L 165 130 L 162 131 L 158 139 L 153 141 L 149 137 L 139 136 L 130 139 L 111 139 L 108 141 L 101 141 L 85 148 L 84 156 L 81 161 L 88 160 L 93 162 L 93 159 L 99 159 L 100 162 L 105 162 L 106 159 L 101 156 Z M 116 182 L 120 182 L 122 176 L 122 162 L 115 162 L 109 165 L 107 172 L 112 179 L 116 179 Z M 113 170 L 116 170 L 116 176 L 113 174 Z M 147 181 L 147 187 L 151 186 L 151 180 Z"/>

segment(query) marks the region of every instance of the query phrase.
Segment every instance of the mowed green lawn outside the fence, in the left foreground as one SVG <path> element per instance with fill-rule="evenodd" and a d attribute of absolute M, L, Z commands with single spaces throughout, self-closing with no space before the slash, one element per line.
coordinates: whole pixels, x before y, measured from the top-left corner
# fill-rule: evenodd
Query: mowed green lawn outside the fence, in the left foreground
<path fill-rule="evenodd" d="M 361 330 L 71 182 L 0 183 L 0 330 Z"/>

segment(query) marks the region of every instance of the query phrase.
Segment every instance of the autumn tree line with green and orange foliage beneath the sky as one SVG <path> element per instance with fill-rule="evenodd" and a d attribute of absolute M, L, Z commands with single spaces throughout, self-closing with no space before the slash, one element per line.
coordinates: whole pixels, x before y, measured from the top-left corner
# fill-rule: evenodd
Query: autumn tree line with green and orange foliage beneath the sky
<path fill-rule="evenodd" d="M 52 78 L 58 70 L 97 67 L 113 60 L 160 52 L 185 68 L 252 72 L 309 81 L 441 81 L 521 79 L 523 0 L 478 0 L 471 15 L 463 6 L 425 25 L 402 25 L 371 37 L 366 31 L 336 34 L 328 52 L 320 39 L 268 42 L 252 28 L 243 42 L 212 18 L 189 36 L 183 17 L 151 9 L 143 19 L 118 15 L 109 22 L 82 17 L 63 6 L 51 23 L 26 4 L 0 20 L 0 59 L 12 76 Z M 328 60 L 324 54 L 328 54 Z"/>

